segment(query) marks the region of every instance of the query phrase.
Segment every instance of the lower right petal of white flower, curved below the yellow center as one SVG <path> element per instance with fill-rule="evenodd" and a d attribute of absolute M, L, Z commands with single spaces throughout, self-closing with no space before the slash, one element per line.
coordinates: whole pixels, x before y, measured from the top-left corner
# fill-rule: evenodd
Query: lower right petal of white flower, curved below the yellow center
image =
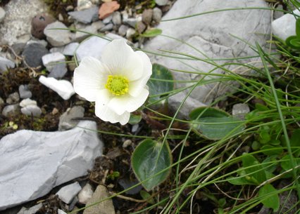
<path fill-rule="evenodd" d="M 123 114 L 124 112 L 135 112 L 139 107 L 141 107 L 146 99 L 148 98 L 149 91 L 146 88 L 142 88 L 137 97 L 132 97 L 131 95 L 123 95 L 119 97 L 114 97 L 108 103 L 113 112 L 116 114 Z"/>

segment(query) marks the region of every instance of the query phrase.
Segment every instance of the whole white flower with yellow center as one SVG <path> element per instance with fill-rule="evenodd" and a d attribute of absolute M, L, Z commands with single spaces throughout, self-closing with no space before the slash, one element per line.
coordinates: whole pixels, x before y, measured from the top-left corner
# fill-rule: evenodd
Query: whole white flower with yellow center
<path fill-rule="evenodd" d="M 74 72 L 74 90 L 82 98 L 96 102 L 95 113 L 103 121 L 126 124 L 130 112 L 146 101 L 146 86 L 152 65 L 142 51 L 133 51 L 123 39 L 108 44 L 101 60 L 86 57 Z"/>

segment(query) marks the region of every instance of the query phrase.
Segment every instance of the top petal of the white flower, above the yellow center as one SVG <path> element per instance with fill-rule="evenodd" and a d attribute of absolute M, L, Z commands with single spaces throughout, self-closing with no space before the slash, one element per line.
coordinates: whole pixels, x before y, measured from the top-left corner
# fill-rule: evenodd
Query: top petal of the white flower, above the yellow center
<path fill-rule="evenodd" d="M 130 81 L 141 78 L 143 74 L 142 57 L 123 39 L 115 39 L 105 46 L 101 61 L 107 65 L 112 74 L 123 75 Z"/>

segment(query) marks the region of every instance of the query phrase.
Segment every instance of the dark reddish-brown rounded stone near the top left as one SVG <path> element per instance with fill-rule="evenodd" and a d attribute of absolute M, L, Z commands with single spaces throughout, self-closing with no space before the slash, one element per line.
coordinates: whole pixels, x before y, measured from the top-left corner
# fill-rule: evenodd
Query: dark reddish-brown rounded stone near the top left
<path fill-rule="evenodd" d="M 55 18 L 51 15 L 46 15 L 45 13 L 40 13 L 35 15 L 31 21 L 31 34 L 35 36 L 37 39 L 44 38 L 44 29 L 47 25 L 54 22 Z"/>

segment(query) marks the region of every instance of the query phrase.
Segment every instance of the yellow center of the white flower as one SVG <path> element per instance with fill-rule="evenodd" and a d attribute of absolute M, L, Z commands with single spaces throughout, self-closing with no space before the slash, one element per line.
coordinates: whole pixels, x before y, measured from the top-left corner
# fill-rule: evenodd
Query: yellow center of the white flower
<path fill-rule="evenodd" d="M 128 79 L 119 75 L 108 75 L 105 85 L 113 95 L 124 95 L 128 92 Z"/>

